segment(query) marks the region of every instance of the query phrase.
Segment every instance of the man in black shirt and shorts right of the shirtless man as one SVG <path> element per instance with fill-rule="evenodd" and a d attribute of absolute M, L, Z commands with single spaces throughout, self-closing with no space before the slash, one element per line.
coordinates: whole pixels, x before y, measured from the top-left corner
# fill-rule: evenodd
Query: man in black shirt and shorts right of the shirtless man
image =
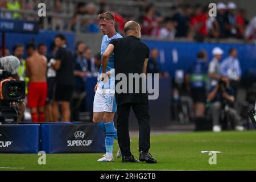
<path fill-rule="evenodd" d="M 67 40 L 64 35 L 55 36 L 55 44 L 59 48 L 56 52 L 52 67 L 56 70 L 56 86 L 53 101 L 54 121 L 59 120 L 59 104 L 61 104 L 61 115 L 64 122 L 70 121 L 70 101 L 73 92 L 75 60 L 73 54 L 67 48 Z"/>

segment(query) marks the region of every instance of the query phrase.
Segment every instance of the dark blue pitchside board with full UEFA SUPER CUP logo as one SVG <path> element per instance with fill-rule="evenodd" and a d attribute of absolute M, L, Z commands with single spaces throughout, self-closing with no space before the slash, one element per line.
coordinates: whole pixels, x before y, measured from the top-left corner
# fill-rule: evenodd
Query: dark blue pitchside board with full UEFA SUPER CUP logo
<path fill-rule="evenodd" d="M 42 124 L 42 150 L 53 153 L 105 152 L 105 133 L 93 124 Z"/>

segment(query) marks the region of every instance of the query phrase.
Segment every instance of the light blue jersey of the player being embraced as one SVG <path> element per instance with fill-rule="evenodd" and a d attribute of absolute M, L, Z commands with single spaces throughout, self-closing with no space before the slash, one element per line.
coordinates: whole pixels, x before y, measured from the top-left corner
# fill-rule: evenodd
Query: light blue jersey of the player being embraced
<path fill-rule="evenodd" d="M 103 53 L 105 52 L 106 48 L 108 47 L 109 43 L 113 40 L 113 39 L 118 39 L 118 38 L 122 38 L 122 36 L 120 34 L 115 34 L 112 38 L 108 38 L 108 35 L 104 35 L 102 38 L 102 42 L 101 42 L 101 56 L 103 55 Z M 106 67 L 106 72 L 108 71 L 112 71 L 114 70 L 114 53 L 112 53 L 112 55 L 109 57 L 109 62 L 108 65 Z M 102 73 L 102 65 L 99 71 L 99 75 L 100 73 Z M 114 72 L 113 72 L 114 73 Z M 109 81 L 107 83 L 102 82 L 100 79 L 98 79 L 99 84 L 98 87 L 102 88 L 102 89 L 114 89 L 114 74 L 112 74 L 112 76 L 110 77 Z"/>

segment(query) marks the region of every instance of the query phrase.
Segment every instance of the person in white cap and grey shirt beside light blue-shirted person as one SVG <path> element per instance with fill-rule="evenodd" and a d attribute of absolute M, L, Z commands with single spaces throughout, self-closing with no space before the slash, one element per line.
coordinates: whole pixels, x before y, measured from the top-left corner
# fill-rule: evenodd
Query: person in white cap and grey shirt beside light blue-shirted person
<path fill-rule="evenodd" d="M 215 47 L 212 50 L 213 59 L 212 61 L 210 61 L 209 69 L 208 69 L 210 86 L 216 85 L 217 82 L 220 80 L 220 77 L 221 77 L 220 60 L 223 53 L 224 52 L 219 47 Z"/>

